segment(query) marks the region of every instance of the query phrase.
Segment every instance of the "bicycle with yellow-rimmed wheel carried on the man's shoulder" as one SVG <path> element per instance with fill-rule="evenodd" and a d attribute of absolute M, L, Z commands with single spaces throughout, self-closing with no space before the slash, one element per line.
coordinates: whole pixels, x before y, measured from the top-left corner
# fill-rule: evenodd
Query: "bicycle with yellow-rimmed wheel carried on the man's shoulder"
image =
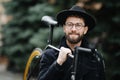
<path fill-rule="evenodd" d="M 54 21 L 49 16 L 45 16 L 43 21 L 47 22 L 49 25 L 49 28 L 50 28 L 48 45 L 46 46 L 45 49 L 52 48 L 59 52 L 60 49 L 58 49 L 52 45 L 53 29 L 54 29 L 54 26 L 56 26 L 57 22 Z M 89 53 L 92 56 L 94 55 L 96 57 L 97 61 L 100 61 L 100 60 L 103 61 L 102 56 L 96 51 L 96 49 L 76 47 L 74 53 L 80 53 L 81 55 L 83 55 L 83 53 Z M 91 53 L 94 53 L 94 54 L 91 54 Z M 33 50 L 33 52 L 31 53 L 31 55 L 28 58 L 28 61 L 26 63 L 23 80 L 36 80 L 37 79 L 37 76 L 40 72 L 39 65 L 40 65 L 40 59 L 41 59 L 42 54 L 43 54 L 42 49 L 40 49 L 40 48 L 35 48 Z M 69 56 L 74 59 L 74 62 L 73 62 L 74 70 L 72 72 L 71 77 L 72 77 L 72 80 L 76 80 L 75 78 L 76 78 L 76 71 L 77 71 L 77 64 L 78 64 L 77 63 L 78 62 L 78 54 L 75 54 L 74 56 L 73 55 L 69 55 Z M 82 63 L 82 56 L 81 56 L 81 63 Z M 104 66 L 104 63 L 102 63 L 102 64 Z"/>

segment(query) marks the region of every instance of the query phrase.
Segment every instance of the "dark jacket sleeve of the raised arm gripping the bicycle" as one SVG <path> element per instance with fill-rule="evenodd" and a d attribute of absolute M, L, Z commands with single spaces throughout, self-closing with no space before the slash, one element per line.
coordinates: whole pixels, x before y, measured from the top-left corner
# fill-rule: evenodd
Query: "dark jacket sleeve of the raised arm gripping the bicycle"
<path fill-rule="evenodd" d="M 41 56 L 38 80 L 54 80 L 60 70 L 61 66 L 56 62 L 55 52 L 48 50 Z"/>

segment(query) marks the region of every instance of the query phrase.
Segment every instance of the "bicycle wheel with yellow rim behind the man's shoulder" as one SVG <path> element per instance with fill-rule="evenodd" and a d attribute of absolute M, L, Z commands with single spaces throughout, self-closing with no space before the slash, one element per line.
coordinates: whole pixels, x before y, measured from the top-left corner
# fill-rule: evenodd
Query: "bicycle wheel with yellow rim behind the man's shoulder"
<path fill-rule="evenodd" d="M 40 48 L 35 48 L 28 58 L 23 80 L 35 80 L 35 77 L 38 75 L 39 61 L 42 54 L 42 50 Z M 34 74 L 33 74 L 34 73 Z"/>

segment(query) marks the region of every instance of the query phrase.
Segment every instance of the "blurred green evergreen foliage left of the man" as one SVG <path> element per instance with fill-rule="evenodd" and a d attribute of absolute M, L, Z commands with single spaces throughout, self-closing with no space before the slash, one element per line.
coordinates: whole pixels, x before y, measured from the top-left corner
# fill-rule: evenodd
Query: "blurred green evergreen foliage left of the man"
<path fill-rule="evenodd" d="M 36 47 L 45 48 L 49 28 L 41 23 L 41 18 L 44 15 L 55 17 L 55 13 L 61 9 L 62 5 L 60 5 L 61 1 L 50 5 L 45 0 L 12 0 L 4 3 L 6 14 L 13 16 L 2 30 L 4 36 L 2 53 L 10 60 L 8 69 L 23 71 L 32 50 Z M 64 6 L 68 5 L 64 4 Z M 54 45 L 58 44 L 61 35 L 58 32 L 60 32 L 59 27 L 55 31 L 58 35 L 54 37 Z"/>

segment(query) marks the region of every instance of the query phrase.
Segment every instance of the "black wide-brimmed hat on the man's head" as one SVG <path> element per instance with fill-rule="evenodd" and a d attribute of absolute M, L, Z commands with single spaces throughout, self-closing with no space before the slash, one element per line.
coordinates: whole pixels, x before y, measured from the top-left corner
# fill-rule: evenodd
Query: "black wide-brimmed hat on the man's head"
<path fill-rule="evenodd" d="M 57 21 L 59 25 L 63 25 L 66 21 L 66 18 L 70 15 L 80 15 L 85 19 L 85 24 L 88 26 L 88 30 L 92 30 L 96 25 L 96 20 L 93 16 L 88 14 L 84 9 L 79 6 L 74 5 L 69 10 L 63 10 L 57 14 Z"/>

